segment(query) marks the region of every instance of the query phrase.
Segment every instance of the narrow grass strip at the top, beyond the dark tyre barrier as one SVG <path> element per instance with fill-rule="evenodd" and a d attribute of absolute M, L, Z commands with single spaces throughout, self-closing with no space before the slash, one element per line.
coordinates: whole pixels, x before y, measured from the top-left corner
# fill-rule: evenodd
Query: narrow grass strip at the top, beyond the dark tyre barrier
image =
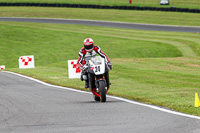
<path fill-rule="evenodd" d="M 69 4 L 91 4 L 91 5 L 122 5 L 122 6 L 150 6 L 150 7 L 170 7 L 200 9 L 199 0 L 170 0 L 169 6 L 160 5 L 160 0 L 0 0 L 0 2 L 17 3 L 69 3 Z"/>

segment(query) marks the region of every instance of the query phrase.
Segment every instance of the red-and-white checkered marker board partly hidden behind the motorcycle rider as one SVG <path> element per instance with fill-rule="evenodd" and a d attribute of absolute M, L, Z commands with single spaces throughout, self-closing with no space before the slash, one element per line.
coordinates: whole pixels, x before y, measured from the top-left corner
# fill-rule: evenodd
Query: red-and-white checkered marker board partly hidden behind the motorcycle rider
<path fill-rule="evenodd" d="M 77 60 L 68 60 L 69 78 L 80 78 L 81 70 L 77 67 Z"/>

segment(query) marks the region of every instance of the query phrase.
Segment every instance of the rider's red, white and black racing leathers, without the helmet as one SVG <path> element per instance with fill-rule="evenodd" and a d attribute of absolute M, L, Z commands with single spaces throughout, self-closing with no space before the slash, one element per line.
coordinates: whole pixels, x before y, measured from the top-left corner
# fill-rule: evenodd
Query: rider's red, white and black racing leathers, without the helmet
<path fill-rule="evenodd" d="M 103 53 L 100 49 L 99 46 L 94 45 L 93 50 L 91 52 L 87 52 L 85 50 L 85 48 L 81 48 L 79 51 L 79 58 L 77 61 L 77 66 L 82 70 L 81 72 L 81 80 L 85 80 L 85 88 L 89 87 L 89 83 L 88 83 L 88 73 L 86 70 L 84 70 L 84 65 L 88 64 L 89 60 L 92 57 L 95 57 L 97 54 L 99 54 L 102 58 L 105 59 L 106 62 L 108 62 L 108 64 L 110 64 L 110 68 L 112 69 L 112 64 L 110 63 L 110 59 L 108 58 L 108 56 Z"/>

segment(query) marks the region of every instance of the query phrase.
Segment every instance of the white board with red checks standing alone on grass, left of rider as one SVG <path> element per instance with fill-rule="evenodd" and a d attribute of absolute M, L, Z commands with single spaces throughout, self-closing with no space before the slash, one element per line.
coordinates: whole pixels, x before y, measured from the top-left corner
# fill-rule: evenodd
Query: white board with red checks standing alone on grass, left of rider
<path fill-rule="evenodd" d="M 19 57 L 19 68 L 35 68 L 34 56 L 27 55 Z"/>

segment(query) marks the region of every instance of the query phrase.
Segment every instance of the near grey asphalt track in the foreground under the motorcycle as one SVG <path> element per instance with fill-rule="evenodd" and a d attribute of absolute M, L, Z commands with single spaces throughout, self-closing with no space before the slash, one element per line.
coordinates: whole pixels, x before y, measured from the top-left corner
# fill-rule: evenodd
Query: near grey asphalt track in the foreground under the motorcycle
<path fill-rule="evenodd" d="M 199 118 L 0 72 L 1 133 L 199 133 Z"/>

